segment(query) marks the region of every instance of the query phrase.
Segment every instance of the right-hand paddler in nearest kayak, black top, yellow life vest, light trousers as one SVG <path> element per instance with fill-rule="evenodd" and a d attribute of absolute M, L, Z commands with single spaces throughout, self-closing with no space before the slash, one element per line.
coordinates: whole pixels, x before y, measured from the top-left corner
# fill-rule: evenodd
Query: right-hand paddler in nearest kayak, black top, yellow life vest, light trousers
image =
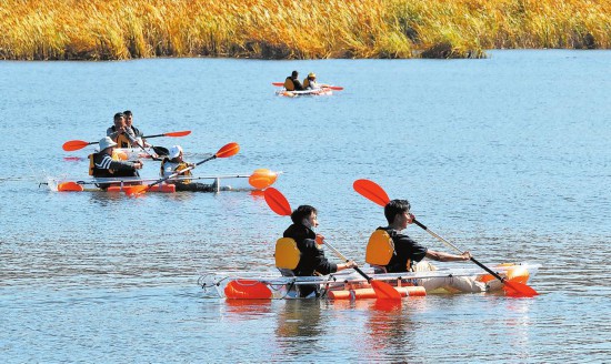
<path fill-rule="evenodd" d="M 410 212 L 410 203 L 408 200 L 392 200 L 384 206 L 384 216 L 389 223 L 385 228 L 378 228 L 374 234 L 383 231 L 388 233 L 385 241 L 389 242 L 391 252 L 390 260 L 385 264 L 373 265 L 374 272 L 378 273 L 402 273 L 402 272 L 423 272 L 434 271 L 432 264 L 423 262 L 424 257 L 439 262 L 465 262 L 471 259 L 470 252 L 463 252 L 460 255 L 449 254 L 444 252 L 433 251 L 428 249 L 410 236 L 402 234 L 401 231 L 407 229 L 413 222 L 414 216 Z M 373 237 L 373 235 L 372 235 Z M 390 237 L 390 241 L 389 241 Z M 384 241 L 384 239 L 382 239 Z M 370 240 L 371 244 L 371 240 Z M 369 255 L 370 249 L 368 245 Z M 372 254 L 373 255 L 373 254 Z M 371 257 L 365 257 L 370 262 Z M 371 263 L 370 263 L 371 264 Z M 453 287 L 462 292 L 482 292 L 487 290 L 484 283 L 477 282 L 464 276 L 455 277 L 439 277 L 428 280 L 417 280 L 418 285 L 423 285 L 427 291 L 434 291 L 439 287 Z"/>

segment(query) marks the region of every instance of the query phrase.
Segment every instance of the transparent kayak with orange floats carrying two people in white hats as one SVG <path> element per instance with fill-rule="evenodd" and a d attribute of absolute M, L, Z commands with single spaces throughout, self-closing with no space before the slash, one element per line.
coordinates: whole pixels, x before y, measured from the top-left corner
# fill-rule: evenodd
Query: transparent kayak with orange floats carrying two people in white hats
<path fill-rule="evenodd" d="M 177 176 L 172 180 L 209 180 L 210 184 L 202 185 L 203 189 L 197 190 L 199 192 L 220 192 L 220 191 L 252 191 L 263 190 L 272 185 L 278 174 L 282 172 L 273 172 L 267 169 L 258 169 L 251 174 L 237 173 L 237 174 L 222 174 L 222 175 L 202 175 L 202 176 Z M 66 180 L 66 179 L 48 179 L 47 185 L 51 191 L 57 192 L 123 192 L 127 186 L 142 185 L 158 181 L 159 179 L 141 179 L 141 178 L 91 178 L 87 180 Z M 248 180 L 250 188 L 232 188 L 229 181 Z M 100 189 L 101 185 L 108 185 L 107 189 Z M 209 188 L 208 188 L 209 186 Z M 163 192 L 174 193 L 177 188 L 173 183 L 159 183 L 153 185 L 149 192 Z M 193 191 L 196 192 L 196 191 Z"/>

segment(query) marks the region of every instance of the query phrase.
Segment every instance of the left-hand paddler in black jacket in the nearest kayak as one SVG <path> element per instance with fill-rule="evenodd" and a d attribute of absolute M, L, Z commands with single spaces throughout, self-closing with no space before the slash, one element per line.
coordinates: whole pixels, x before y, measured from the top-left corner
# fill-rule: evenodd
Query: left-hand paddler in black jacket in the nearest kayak
<path fill-rule="evenodd" d="M 318 211 L 310 205 L 301 205 L 291 213 L 292 224 L 284 231 L 283 236 L 294 240 L 300 252 L 299 263 L 292 270 L 296 276 L 327 275 L 357 266 L 353 261 L 335 264 L 324 257 L 321 244 L 324 236 L 314 233 L 318 226 Z M 301 297 L 319 295 L 318 285 L 300 285 Z"/>

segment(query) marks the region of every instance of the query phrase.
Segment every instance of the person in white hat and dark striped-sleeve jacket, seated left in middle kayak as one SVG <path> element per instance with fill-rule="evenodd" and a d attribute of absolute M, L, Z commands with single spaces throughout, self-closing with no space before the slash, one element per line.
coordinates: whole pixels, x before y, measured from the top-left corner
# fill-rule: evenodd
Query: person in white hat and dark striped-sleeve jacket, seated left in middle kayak
<path fill-rule="evenodd" d="M 89 155 L 89 174 L 94 178 L 139 176 L 138 170 L 142 169 L 142 162 L 113 160 L 114 146 L 117 143 L 110 136 L 100 140 L 100 151 Z M 109 185 L 103 183 L 98 186 L 106 190 Z"/>

